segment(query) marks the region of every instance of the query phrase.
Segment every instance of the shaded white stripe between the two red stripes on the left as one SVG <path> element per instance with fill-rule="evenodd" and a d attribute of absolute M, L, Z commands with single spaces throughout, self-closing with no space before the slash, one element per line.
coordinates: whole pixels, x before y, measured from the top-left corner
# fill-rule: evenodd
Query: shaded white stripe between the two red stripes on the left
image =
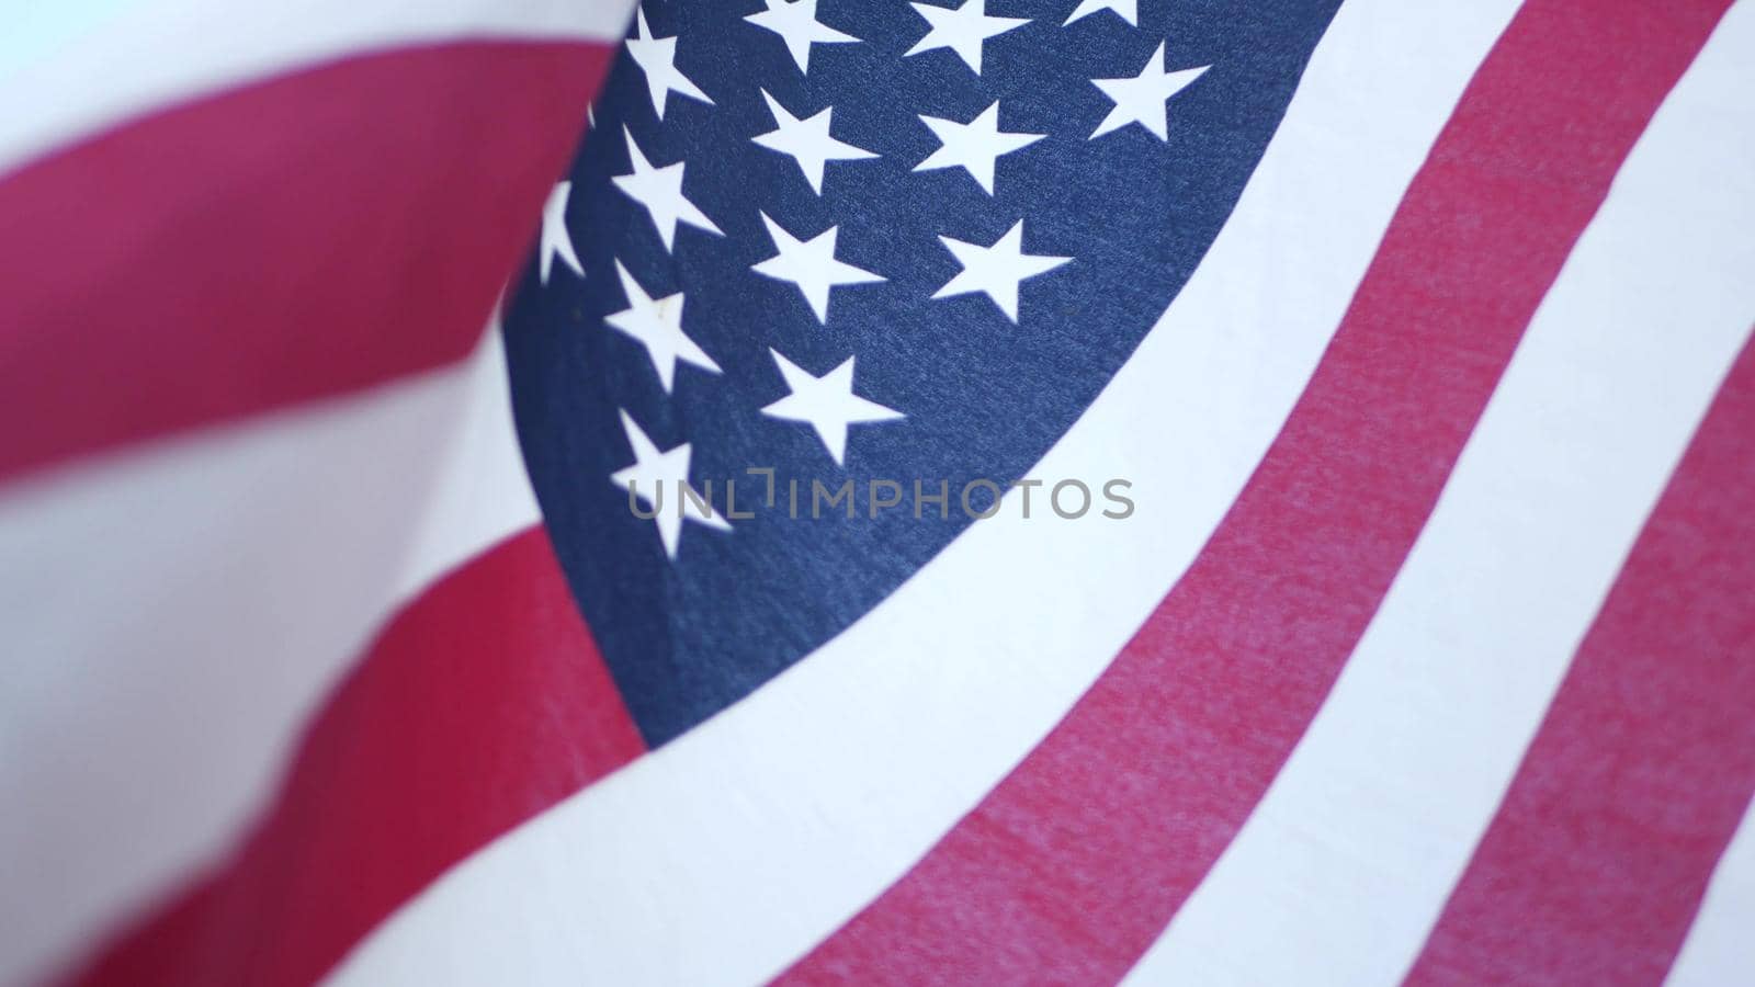
<path fill-rule="evenodd" d="M 384 616 L 535 523 L 497 341 L 0 495 L 0 982 L 226 850 Z"/>

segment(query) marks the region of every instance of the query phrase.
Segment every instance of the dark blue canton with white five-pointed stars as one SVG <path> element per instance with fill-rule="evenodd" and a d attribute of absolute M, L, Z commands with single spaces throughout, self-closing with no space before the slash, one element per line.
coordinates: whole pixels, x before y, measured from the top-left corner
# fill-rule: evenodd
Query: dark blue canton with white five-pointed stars
<path fill-rule="evenodd" d="M 649 743 L 979 523 L 965 485 L 1028 474 L 1195 270 L 1337 2 L 644 4 L 505 348 L 556 551 Z M 667 478 L 716 509 L 679 515 Z M 813 518 L 813 483 L 848 479 L 855 516 Z M 902 504 L 872 516 L 872 479 Z"/>

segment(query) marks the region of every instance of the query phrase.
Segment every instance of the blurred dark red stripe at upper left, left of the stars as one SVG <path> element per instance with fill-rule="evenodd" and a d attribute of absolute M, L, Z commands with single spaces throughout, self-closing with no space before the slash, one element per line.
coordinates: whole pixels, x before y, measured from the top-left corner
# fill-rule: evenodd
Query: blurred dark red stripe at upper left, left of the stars
<path fill-rule="evenodd" d="M 351 58 L 0 181 L 0 478 L 467 355 L 611 51 Z"/>

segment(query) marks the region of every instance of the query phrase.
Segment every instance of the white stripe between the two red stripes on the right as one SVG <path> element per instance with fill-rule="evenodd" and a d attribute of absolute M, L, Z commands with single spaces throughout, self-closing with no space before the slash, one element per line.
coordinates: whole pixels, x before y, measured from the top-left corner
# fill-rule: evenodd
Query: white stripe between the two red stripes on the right
<path fill-rule="evenodd" d="M 1139 983 L 1392 983 L 1755 321 L 1755 9 L 1622 167 L 1327 704 Z"/>

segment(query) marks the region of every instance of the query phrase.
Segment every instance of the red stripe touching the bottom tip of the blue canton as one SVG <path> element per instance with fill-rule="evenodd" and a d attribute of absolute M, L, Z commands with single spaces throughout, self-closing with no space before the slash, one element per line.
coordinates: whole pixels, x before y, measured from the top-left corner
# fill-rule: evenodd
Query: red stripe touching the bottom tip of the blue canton
<path fill-rule="evenodd" d="M 404 609 L 228 862 L 84 983 L 309 983 L 446 868 L 646 750 L 532 529 Z"/>

